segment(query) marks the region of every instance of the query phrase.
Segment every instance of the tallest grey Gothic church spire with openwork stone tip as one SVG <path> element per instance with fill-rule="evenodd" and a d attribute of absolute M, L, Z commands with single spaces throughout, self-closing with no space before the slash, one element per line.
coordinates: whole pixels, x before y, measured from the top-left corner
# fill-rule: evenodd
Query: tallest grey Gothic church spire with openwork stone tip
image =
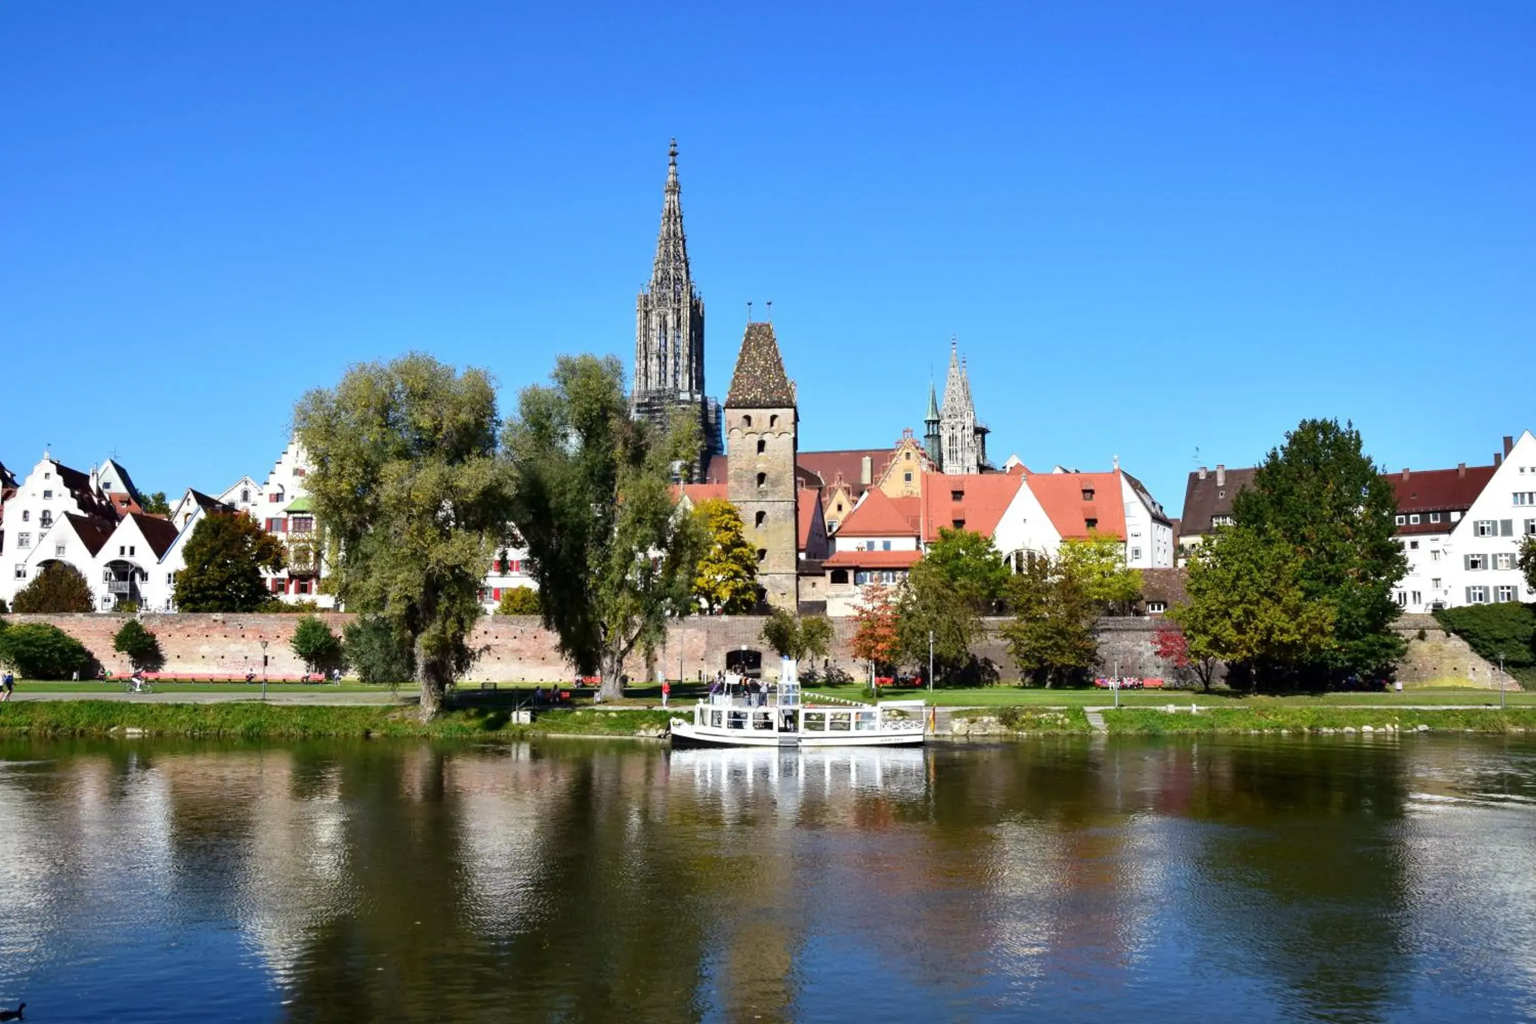
<path fill-rule="evenodd" d="M 656 425 L 667 425 L 674 408 L 688 410 L 702 431 L 702 454 L 708 456 L 722 450 L 720 408 L 703 393 L 703 299 L 688 267 L 676 138 L 667 155 L 656 261 L 650 284 L 634 302 L 634 391 L 630 407 L 636 418 Z"/>

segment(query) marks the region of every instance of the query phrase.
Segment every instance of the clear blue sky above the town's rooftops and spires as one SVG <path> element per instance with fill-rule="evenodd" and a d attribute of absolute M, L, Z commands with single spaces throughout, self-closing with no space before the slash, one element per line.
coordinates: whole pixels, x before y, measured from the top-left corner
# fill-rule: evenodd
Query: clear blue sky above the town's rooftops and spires
<path fill-rule="evenodd" d="M 263 476 L 412 348 L 510 411 L 634 344 L 677 137 L 708 384 L 774 302 L 802 448 L 1389 468 L 1536 428 L 1536 5 L 0 5 L 0 461 Z"/>

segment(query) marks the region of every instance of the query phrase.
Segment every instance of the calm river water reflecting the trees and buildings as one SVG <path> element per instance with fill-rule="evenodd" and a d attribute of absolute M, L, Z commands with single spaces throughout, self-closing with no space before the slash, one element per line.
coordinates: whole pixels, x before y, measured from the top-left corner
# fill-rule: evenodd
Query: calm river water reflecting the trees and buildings
<path fill-rule="evenodd" d="M 0 745 L 29 1021 L 1522 1019 L 1536 743 Z"/>

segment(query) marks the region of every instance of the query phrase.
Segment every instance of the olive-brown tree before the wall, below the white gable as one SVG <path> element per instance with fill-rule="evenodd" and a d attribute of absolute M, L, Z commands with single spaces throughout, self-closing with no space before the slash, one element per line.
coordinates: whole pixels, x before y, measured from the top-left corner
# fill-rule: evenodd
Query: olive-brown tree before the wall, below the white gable
<path fill-rule="evenodd" d="M 1098 660 L 1098 602 L 1077 562 L 1028 559 L 1011 580 L 1009 605 L 1014 619 L 1003 639 L 1025 682 L 1077 682 Z"/>

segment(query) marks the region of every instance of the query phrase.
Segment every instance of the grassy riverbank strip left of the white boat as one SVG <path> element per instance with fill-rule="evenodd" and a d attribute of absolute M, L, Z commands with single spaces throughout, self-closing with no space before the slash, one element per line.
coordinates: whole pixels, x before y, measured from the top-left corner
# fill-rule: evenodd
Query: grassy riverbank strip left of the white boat
<path fill-rule="evenodd" d="M 292 706 L 261 702 L 174 705 L 108 700 L 15 702 L 0 706 L 0 734 L 49 737 L 144 735 L 230 738 L 415 737 L 444 740 L 525 735 L 641 735 L 667 726 L 664 711 L 541 711 L 513 725 L 508 708 L 456 708 L 422 725 L 415 708 Z"/>

